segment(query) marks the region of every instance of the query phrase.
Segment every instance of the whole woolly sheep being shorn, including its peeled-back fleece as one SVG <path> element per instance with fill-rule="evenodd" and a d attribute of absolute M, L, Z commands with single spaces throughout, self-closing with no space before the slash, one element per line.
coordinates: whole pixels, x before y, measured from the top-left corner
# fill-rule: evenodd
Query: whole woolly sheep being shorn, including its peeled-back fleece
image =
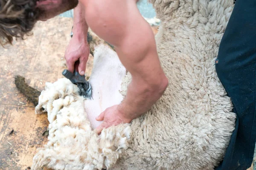
<path fill-rule="evenodd" d="M 49 142 L 32 169 L 213 170 L 223 159 L 236 115 L 215 59 L 233 0 L 149 2 L 161 20 L 157 50 L 169 79 L 163 96 L 143 116 L 98 136 L 95 117 L 122 101 L 131 74 L 108 44 L 91 42 L 93 100 L 67 79 L 46 85 L 36 113 L 48 113 Z"/>

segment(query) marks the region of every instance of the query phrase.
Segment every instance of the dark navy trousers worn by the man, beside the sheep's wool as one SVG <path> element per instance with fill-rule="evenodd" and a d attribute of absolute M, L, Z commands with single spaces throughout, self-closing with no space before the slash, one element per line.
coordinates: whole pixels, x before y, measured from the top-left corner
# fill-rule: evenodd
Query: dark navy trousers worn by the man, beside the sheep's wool
<path fill-rule="evenodd" d="M 217 61 L 218 77 L 237 119 L 224 160 L 215 170 L 246 170 L 256 142 L 256 0 L 236 0 Z"/>

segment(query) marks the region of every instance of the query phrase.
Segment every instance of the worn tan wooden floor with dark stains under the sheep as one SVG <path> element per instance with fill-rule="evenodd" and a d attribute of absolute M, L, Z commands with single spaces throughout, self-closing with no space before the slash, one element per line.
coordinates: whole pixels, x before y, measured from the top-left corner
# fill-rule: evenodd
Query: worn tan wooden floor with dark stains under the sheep
<path fill-rule="evenodd" d="M 39 91 L 45 82 L 62 78 L 72 24 L 65 17 L 39 22 L 26 40 L 0 47 L 0 170 L 29 170 L 36 149 L 47 142 L 47 114 L 35 115 L 34 105 L 17 91 L 14 76 L 25 77 Z M 156 27 L 152 30 L 157 32 Z M 90 56 L 87 75 L 92 65 Z"/>

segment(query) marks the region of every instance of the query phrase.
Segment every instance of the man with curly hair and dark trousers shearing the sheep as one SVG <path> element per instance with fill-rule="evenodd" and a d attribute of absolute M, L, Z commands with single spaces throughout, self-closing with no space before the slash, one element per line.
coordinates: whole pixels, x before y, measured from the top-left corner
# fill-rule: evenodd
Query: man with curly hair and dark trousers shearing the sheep
<path fill-rule="evenodd" d="M 10 3 L 11 2 L 11 3 Z M 84 74 L 89 55 L 88 26 L 115 46 L 131 72 L 132 82 L 120 105 L 106 109 L 98 118 L 102 128 L 145 113 L 163 94 L 168 79 L 160 67 L 154 35 L 140 15 L 137 0 L 0 0 L 0 36 L 8 42 L 23 37 L 36 20 L 47 20 L 71 8 L 74 11 L 73 38 L 66 51 L 67 66 Z M 12 6 L 12 7 L 11 7 Z M 256 142 L 256 0 L 237 0 L 221 40 L 216 71 L 237 114 L 226 155 L 216 170 L 245 170 L 250 167 Z M 25 11 L 20 11 L 25 9 Z M 20 15 L 23 14 L 23 15 Z"/>

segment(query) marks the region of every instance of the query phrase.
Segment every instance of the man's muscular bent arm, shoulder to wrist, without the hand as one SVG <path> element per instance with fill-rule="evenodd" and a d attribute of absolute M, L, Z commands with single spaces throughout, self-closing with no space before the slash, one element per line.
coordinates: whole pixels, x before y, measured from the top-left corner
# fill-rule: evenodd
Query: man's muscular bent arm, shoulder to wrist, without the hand
<path fill-rule="evenodd" d="M 142 115 L 162 96 L 168 85 L 157 56 L 154 34 L 141 16 L 136 0 L 81 0 L 88 26 L 115 46 L 131 73 L 125 99 L 117 109 L 124 122 Z"/>

